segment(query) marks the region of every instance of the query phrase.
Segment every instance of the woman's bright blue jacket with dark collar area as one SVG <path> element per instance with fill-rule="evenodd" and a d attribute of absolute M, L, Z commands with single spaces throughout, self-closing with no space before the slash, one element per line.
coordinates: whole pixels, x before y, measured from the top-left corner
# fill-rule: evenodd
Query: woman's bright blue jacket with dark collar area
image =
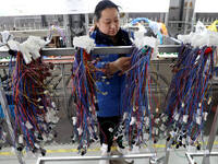
<path fill-rule="evenodd" d="M 117 34 L 117 43 L 113 43 L 110 37 L 102 34 L 98 30 L 90 34 L 90 37 L 95 39 L 97 47 L 107 46 L 130 46 L 132 45 L 129 34 L 121 30 Z M 96 63 L 97 68 L 104 68 L 106 63 L 117 60 L 120 55 L 92 55 L 92 58 L 100 58 L 100 61 Z M 119 72 L 118 72 L 119 73 Z M 123 90 L 124 75 L 113 74 L 111 78 L 104 79 L 105 74 L 101 74 L 101 79 L 96 82 L 96 97 L 98 105 L 98 117 L 112 117 L 122 115 L 121 110 L 121 93 Z"/>

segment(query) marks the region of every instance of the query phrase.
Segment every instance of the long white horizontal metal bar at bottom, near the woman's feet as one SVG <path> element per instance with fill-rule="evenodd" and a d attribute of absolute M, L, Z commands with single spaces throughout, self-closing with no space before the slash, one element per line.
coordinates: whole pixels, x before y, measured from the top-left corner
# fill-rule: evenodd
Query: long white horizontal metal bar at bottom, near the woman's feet
<path fill-rule="evenodd" d="M 46 162 L 53 161 L 96 161 L 96 160 L 118 160 L 118 159 L 149 159 L 154 157 L 156 154 L 146 153 L 146 154 L 131 154 L 131 155 L 111 155 L 111 156 L 43 156 L 38 157 L 36 164 L 44 164 Z"/>

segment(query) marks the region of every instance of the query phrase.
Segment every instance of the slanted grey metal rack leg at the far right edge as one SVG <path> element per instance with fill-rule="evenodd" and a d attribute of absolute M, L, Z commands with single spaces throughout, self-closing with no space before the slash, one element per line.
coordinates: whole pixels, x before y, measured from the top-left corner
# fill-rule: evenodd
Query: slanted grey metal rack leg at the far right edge
<path fill-rule="evenodd" d="M 206 148 L 206 150 L 208 150 L 209 153 L 211 152 L 217 131 L 218 131 L 218 106 L 217 106 L 217 109 L 216 109 L 216 114 L 215 114 L 215 117 L 214 117 L 214 121 L 213 121 L 211 129 L 210 129 L 210 132 L 209 132 L 208 143 L 207 143 L 207 148 Z M 202 163 L 203 164 L 209 164 L 209 156 L 207 154 L 205 154 Z"/>

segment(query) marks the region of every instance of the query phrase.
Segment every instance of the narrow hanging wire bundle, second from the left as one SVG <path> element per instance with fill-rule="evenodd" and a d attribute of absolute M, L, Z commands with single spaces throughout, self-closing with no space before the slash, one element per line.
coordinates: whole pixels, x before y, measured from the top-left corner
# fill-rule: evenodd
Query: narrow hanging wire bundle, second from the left
<path fill-rule="evenodd" d="M 90 142 L 97 139 L 96 129 L 96 98 L 95 81 L 96 68 L 90 55 L 80 48 L 75 54 L 73 69 L 73 93 L 76 112 L 74 114 L 74 133 L 77 134 L 78 151 L 81 154 L 86 152 Z"/>

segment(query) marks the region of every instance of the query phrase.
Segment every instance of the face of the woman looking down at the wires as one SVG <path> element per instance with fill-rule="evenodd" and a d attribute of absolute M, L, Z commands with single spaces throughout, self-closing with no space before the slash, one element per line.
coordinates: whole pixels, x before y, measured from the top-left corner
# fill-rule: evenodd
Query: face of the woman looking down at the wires
<path fill-rule="evenodd" d="M 119 13 L 116 8 L 107 8 L 101 11 L 101 16 L 96 25 L 101 33 L 109 36 L 114 36 L 120 28 L 119 19 Z"/>

